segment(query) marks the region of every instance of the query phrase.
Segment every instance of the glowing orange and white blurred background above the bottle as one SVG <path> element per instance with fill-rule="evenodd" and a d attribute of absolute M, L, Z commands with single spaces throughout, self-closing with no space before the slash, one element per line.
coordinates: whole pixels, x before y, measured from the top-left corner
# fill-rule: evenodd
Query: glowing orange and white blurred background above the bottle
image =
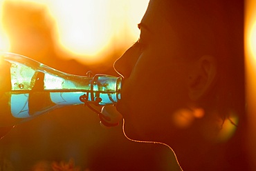
<path fill-rule="evenodd" d="M 67 70 L 69 62 L 109 70 L 137 41 L 148 1 L 0 0 L 0 50 Z"/>

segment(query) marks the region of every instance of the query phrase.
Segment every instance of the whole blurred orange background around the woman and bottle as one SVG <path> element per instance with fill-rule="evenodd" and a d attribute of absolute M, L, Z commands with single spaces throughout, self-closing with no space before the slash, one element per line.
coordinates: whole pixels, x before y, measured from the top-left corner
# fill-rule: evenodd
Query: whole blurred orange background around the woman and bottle
<path fill-rule="evenodd" d="M 0 0 L 0 51 L 23 54 L 71 74 L 85 75 L 92 70 L 117 75 L 113 62 L 138 39 L 137 24 L 148 2 Z M 254 0 L 246 1 L 245 40 L 248 148 L 256 163 Z M 101 128 L 97 114 L 82 105 L 17 125 L 0 140 L 0 170 L 52 170 L 54 163 L 72 165 L 70 159 L 87 171 L 152 170 L 156 165 L 168 168 L 170 158 L 165 147 L 125 139 L 121 125 Z"/>

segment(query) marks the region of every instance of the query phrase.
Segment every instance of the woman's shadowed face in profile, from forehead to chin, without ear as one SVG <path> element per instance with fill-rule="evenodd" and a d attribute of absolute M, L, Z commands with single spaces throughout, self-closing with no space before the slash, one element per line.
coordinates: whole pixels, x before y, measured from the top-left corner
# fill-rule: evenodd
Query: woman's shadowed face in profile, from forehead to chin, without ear
<path fill-rule="evenodd" d="M 138 42 L 114 65 L 124 77 L 117 109 L 125 119 L 128 137 L 161 141 L 167 132 L 169 137 L 174 135 L 175 115 L 191 104 L 188 80 L 192 64 L 161 14 L 160 4 L 149 3 L 138 28 Z"/>

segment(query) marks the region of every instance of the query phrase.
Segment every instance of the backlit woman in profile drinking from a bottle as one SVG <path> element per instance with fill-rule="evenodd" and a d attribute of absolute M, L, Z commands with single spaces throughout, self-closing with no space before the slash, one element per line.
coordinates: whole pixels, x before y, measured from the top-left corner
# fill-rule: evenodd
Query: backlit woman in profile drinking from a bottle
<path fill-rule="evenodd" d="M 130 139 L 169 145 L 183 170 L 247 170 L 244 2 L 152 0 L 116 61 Z"/>

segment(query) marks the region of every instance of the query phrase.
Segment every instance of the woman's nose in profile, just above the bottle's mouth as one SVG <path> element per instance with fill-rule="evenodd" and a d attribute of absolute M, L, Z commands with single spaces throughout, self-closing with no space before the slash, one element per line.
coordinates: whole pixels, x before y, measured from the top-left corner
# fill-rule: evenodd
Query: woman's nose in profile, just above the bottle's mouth
<path fill-rule="evenodd" d="M 120 74 L 122 77 L 127 78 L 131 74 L 136 61 L 138 59 L 136 53 L 134 52 L 133 47 L 129 48 L 122 57 L 120 57 L 114 63 L 113 67 L 115 68 L 116 72 Z"/>

